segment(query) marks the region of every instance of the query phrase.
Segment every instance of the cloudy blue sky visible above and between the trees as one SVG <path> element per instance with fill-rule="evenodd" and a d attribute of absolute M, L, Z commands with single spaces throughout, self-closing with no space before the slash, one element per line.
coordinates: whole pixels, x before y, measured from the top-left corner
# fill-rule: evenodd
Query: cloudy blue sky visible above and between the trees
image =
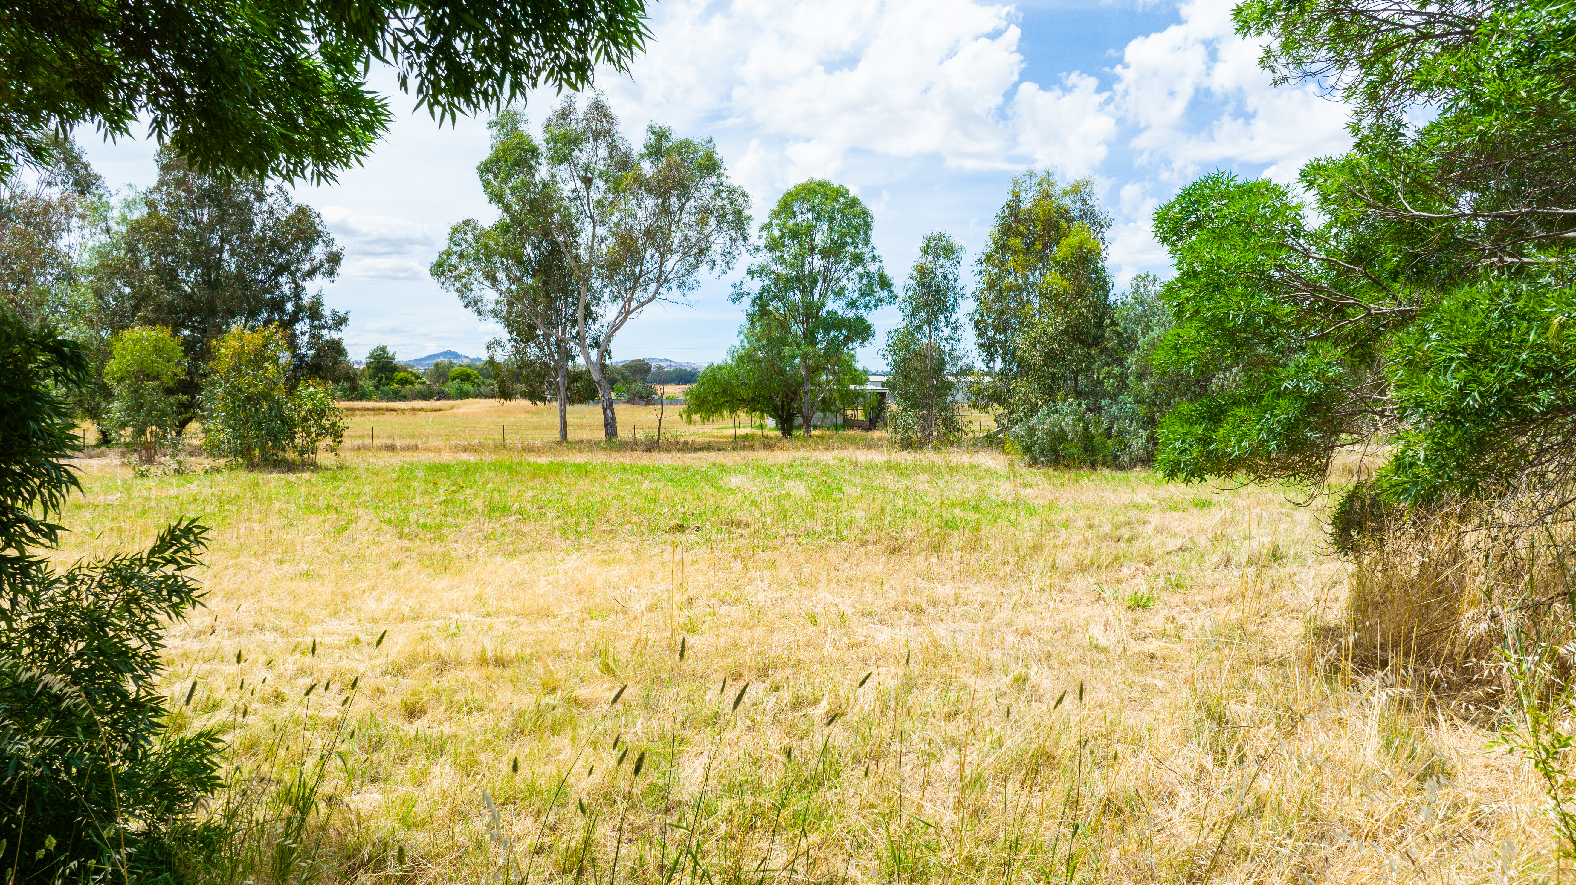
<path fill-rule="evenodd" d="M 604 72 L 630 140 L 649 121 L 716 139 L 753 198 L 756 224 L 810 176 L 854 189 L 901 285 L 931 230 L 969 255 L 1013 175 L 1092 176 L 1111 209 L 1117 283 L 1169 272 L 1149 216 L 1198 175 L 1226 168 L 1289 181 L 1311 157 L 1347 145 L 1344 109 L 1308 87 L 1270 87 L 1259 47 L 1231 31 L 1231 3 L 1051 0 L 659 0 L 656 39 L 627 74 Z M 426 266 L 452 224 L 492 213 L 476 183 L 485 118 L 440 128 L 378 72 L 396 123 L 366 165 L 336 186 L 299 186 L 345 249 L 329 304 L 350 312 L 345 345 L 361 357 L 388 343 L 405 357 L 481 356 L 493 331 L 438 288 Z M 537 123 L 556 102 L 533 94 Z M 84 145 L 112 187 L 151 184 L 145 140 Z M 706 280 L 687 307 L 654 305 L 627 326 L 615 359 L 712 362 L 739 326 L 738 276 Z M 897 321 L 873 317 L 879 345 Z"/>

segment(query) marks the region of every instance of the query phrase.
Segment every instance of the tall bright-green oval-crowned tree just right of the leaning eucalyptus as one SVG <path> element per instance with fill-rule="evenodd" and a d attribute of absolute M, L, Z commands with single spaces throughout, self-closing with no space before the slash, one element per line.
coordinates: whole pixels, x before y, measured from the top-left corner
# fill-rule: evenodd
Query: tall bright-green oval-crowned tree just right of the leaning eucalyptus
<path fill-rule="evenodd" d="M 892 301 L 873 227 L 870 209 L 848 187 L 818 178 L 796 184 L 768 214 L 761 260 L 733 290 L 750 324 L 786 335 L 805 433 L 821 403 L 846 387 L 853 350 L 875 337 L 868 313 Z"/>

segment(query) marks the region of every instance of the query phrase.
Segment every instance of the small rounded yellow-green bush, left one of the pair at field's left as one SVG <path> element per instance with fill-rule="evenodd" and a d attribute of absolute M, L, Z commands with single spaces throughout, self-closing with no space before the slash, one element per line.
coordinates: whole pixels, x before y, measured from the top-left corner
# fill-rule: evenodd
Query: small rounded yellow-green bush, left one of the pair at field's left
<path fill-rule="evenodd" d="M 132 326 L 110 339 L 104 381 L 113 391 L 110 422 L 142 463 L 158 460 L 180 428 L 186 402 L 177 384 L 186 378 L 186 354 L 164 326 Z"/>

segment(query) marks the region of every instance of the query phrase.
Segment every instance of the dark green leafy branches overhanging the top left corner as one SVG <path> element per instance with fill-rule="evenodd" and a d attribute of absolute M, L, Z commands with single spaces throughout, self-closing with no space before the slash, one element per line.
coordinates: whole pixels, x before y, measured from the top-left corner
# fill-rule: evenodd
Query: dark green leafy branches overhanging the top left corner
<path fill-rule="evenodd" d="M 13 83 L 0 173 L 46 156 L 44 132 L 129 137 L 140 118 L 203 170 L 333 181 L 391 120 L 366 83 L 377 63 L 454 120 L 544 85 L 582 90 L 597 65 L 623 69 L 645 46 L 643 19 L 640 0 L 22 5 L 0 35 Z"/>

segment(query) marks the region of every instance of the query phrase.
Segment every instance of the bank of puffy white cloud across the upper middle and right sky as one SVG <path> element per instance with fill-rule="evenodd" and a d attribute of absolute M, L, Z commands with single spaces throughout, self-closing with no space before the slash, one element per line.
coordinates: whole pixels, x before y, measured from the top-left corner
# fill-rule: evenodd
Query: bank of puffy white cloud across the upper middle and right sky
<path fill-rule="evenodd" d="M 1346 145 L 1344 109 L 1270 87 L 1231 5 L 1187 0 L 1177 24 L 1130 39 L 1111 69 L 1042 85 L 1020 79 L 1024 38 L 1009 5 L 673 0 L 656 8 L 648 52 L 602 85 L 632 135 L 648 120 L 716 134 L 758 209 L 808 176 L 890 189 L 919 157 L 1143 184 L 1143 200 L 1124 189 L 1113 206 L 1113 261 L 1130 276 L 1165 265 L 1149 214 L 1199 172 L 1250 165 L 1286 180 Z M 1132 173 L 1108 168 L 1113 159 Z"/>

